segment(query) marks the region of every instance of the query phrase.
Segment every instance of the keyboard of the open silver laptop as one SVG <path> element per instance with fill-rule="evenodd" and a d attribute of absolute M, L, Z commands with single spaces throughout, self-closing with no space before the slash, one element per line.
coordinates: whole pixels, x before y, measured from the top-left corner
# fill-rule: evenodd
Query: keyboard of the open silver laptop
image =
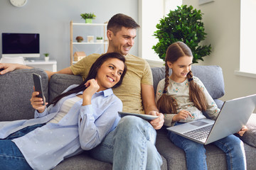
<path fill-rule="evenodd" d="M 208 137 L 210 130 L 213 128 L 213 125 L 208 125 L 203 128 L 199 128 L 197 130 L 191 130 L 189 132 L 185 132 L 184 135 L 188 137 L 192 137 L 196 140 L 203 140 Z"/>

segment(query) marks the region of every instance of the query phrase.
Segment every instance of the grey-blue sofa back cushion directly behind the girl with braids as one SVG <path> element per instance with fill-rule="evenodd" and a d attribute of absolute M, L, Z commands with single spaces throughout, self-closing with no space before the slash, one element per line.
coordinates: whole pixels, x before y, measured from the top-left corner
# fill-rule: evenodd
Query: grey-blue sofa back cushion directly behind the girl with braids
<path fill-rule="evenodd" d="M 154 79 L 154 91 L 156 93 L 159 81 L 164 79 L 165 67 L 154 67 L 151 70 Z M 213 99 L 220 98 L 225 94 L 223 72 L 220 67 L 214 65 L 192 65 L 191 71 L 195 77 L 198 77 L 203 82 Z M 171 74 L 171 69 L 169 73 Z"/>

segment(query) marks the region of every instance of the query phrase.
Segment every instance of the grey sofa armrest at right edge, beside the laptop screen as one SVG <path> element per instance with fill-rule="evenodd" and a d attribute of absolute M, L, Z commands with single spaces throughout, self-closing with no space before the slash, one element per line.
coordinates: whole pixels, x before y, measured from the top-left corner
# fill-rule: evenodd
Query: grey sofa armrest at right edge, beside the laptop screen
<path fill-rule="evenodd" d="M 247 145 L 256 147 L 256 113 L 252 113 L 246 126 L 248 130 L 242 137 L 240 137 L 240 139 L 242 140 L 242 142 L 247 143 Z"/>

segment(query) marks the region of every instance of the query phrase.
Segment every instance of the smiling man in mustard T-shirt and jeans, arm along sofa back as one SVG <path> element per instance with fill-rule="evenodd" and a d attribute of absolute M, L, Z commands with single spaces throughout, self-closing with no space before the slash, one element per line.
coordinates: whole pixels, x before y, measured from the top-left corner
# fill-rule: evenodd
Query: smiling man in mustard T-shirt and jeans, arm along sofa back
<path fill-rule="evenodd" d="M 118 13 L 107 24 L 109 46 L 107 52 L 119 52 L 126 58 L 127 74 L 122 85 L 114 89 L 123 102 L 123 111 L 159 115 L 159 118 L 146 120 L 126 116 L 105 140 L 91 150 L 92 157 L 113 164 L 113 169 L 160 169 L 161 156 L 154 146 L 156 130 L 164 123 L 164 115 L 159 113 L 154 101 L 153 78 L 149 64 L 142 58 L 129 55 L 134 45 L 139 25 L 129 16 Z M 88 55 L 71 67 L 60 70 L 60 74 L 75 74 L 86 77 L 98 54 Z M 19 64 L 0 64 L 4 69 L 0 74 L 14 69 L 31 68 Z M 50 77 L 54 72 L 47 72 Z M 156 130 L 154 130 L 156 129 Z"/>

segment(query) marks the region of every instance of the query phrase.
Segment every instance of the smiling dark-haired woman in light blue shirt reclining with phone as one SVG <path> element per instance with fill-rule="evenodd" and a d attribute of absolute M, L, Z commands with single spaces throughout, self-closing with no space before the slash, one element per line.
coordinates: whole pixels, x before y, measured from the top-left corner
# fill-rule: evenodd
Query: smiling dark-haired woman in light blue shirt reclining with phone
<path fill-rule="evenodd" d="M 1 169 L 53 169 L 64 158 L 99 145 L 120 119 L 122 101 L 110 88 L 122 84 L 124 62 L 116 52 L 102 55 L 82 84 L 69 86 L 48 108 L 34 91 L 34 119 L 0 123 Z"/>

